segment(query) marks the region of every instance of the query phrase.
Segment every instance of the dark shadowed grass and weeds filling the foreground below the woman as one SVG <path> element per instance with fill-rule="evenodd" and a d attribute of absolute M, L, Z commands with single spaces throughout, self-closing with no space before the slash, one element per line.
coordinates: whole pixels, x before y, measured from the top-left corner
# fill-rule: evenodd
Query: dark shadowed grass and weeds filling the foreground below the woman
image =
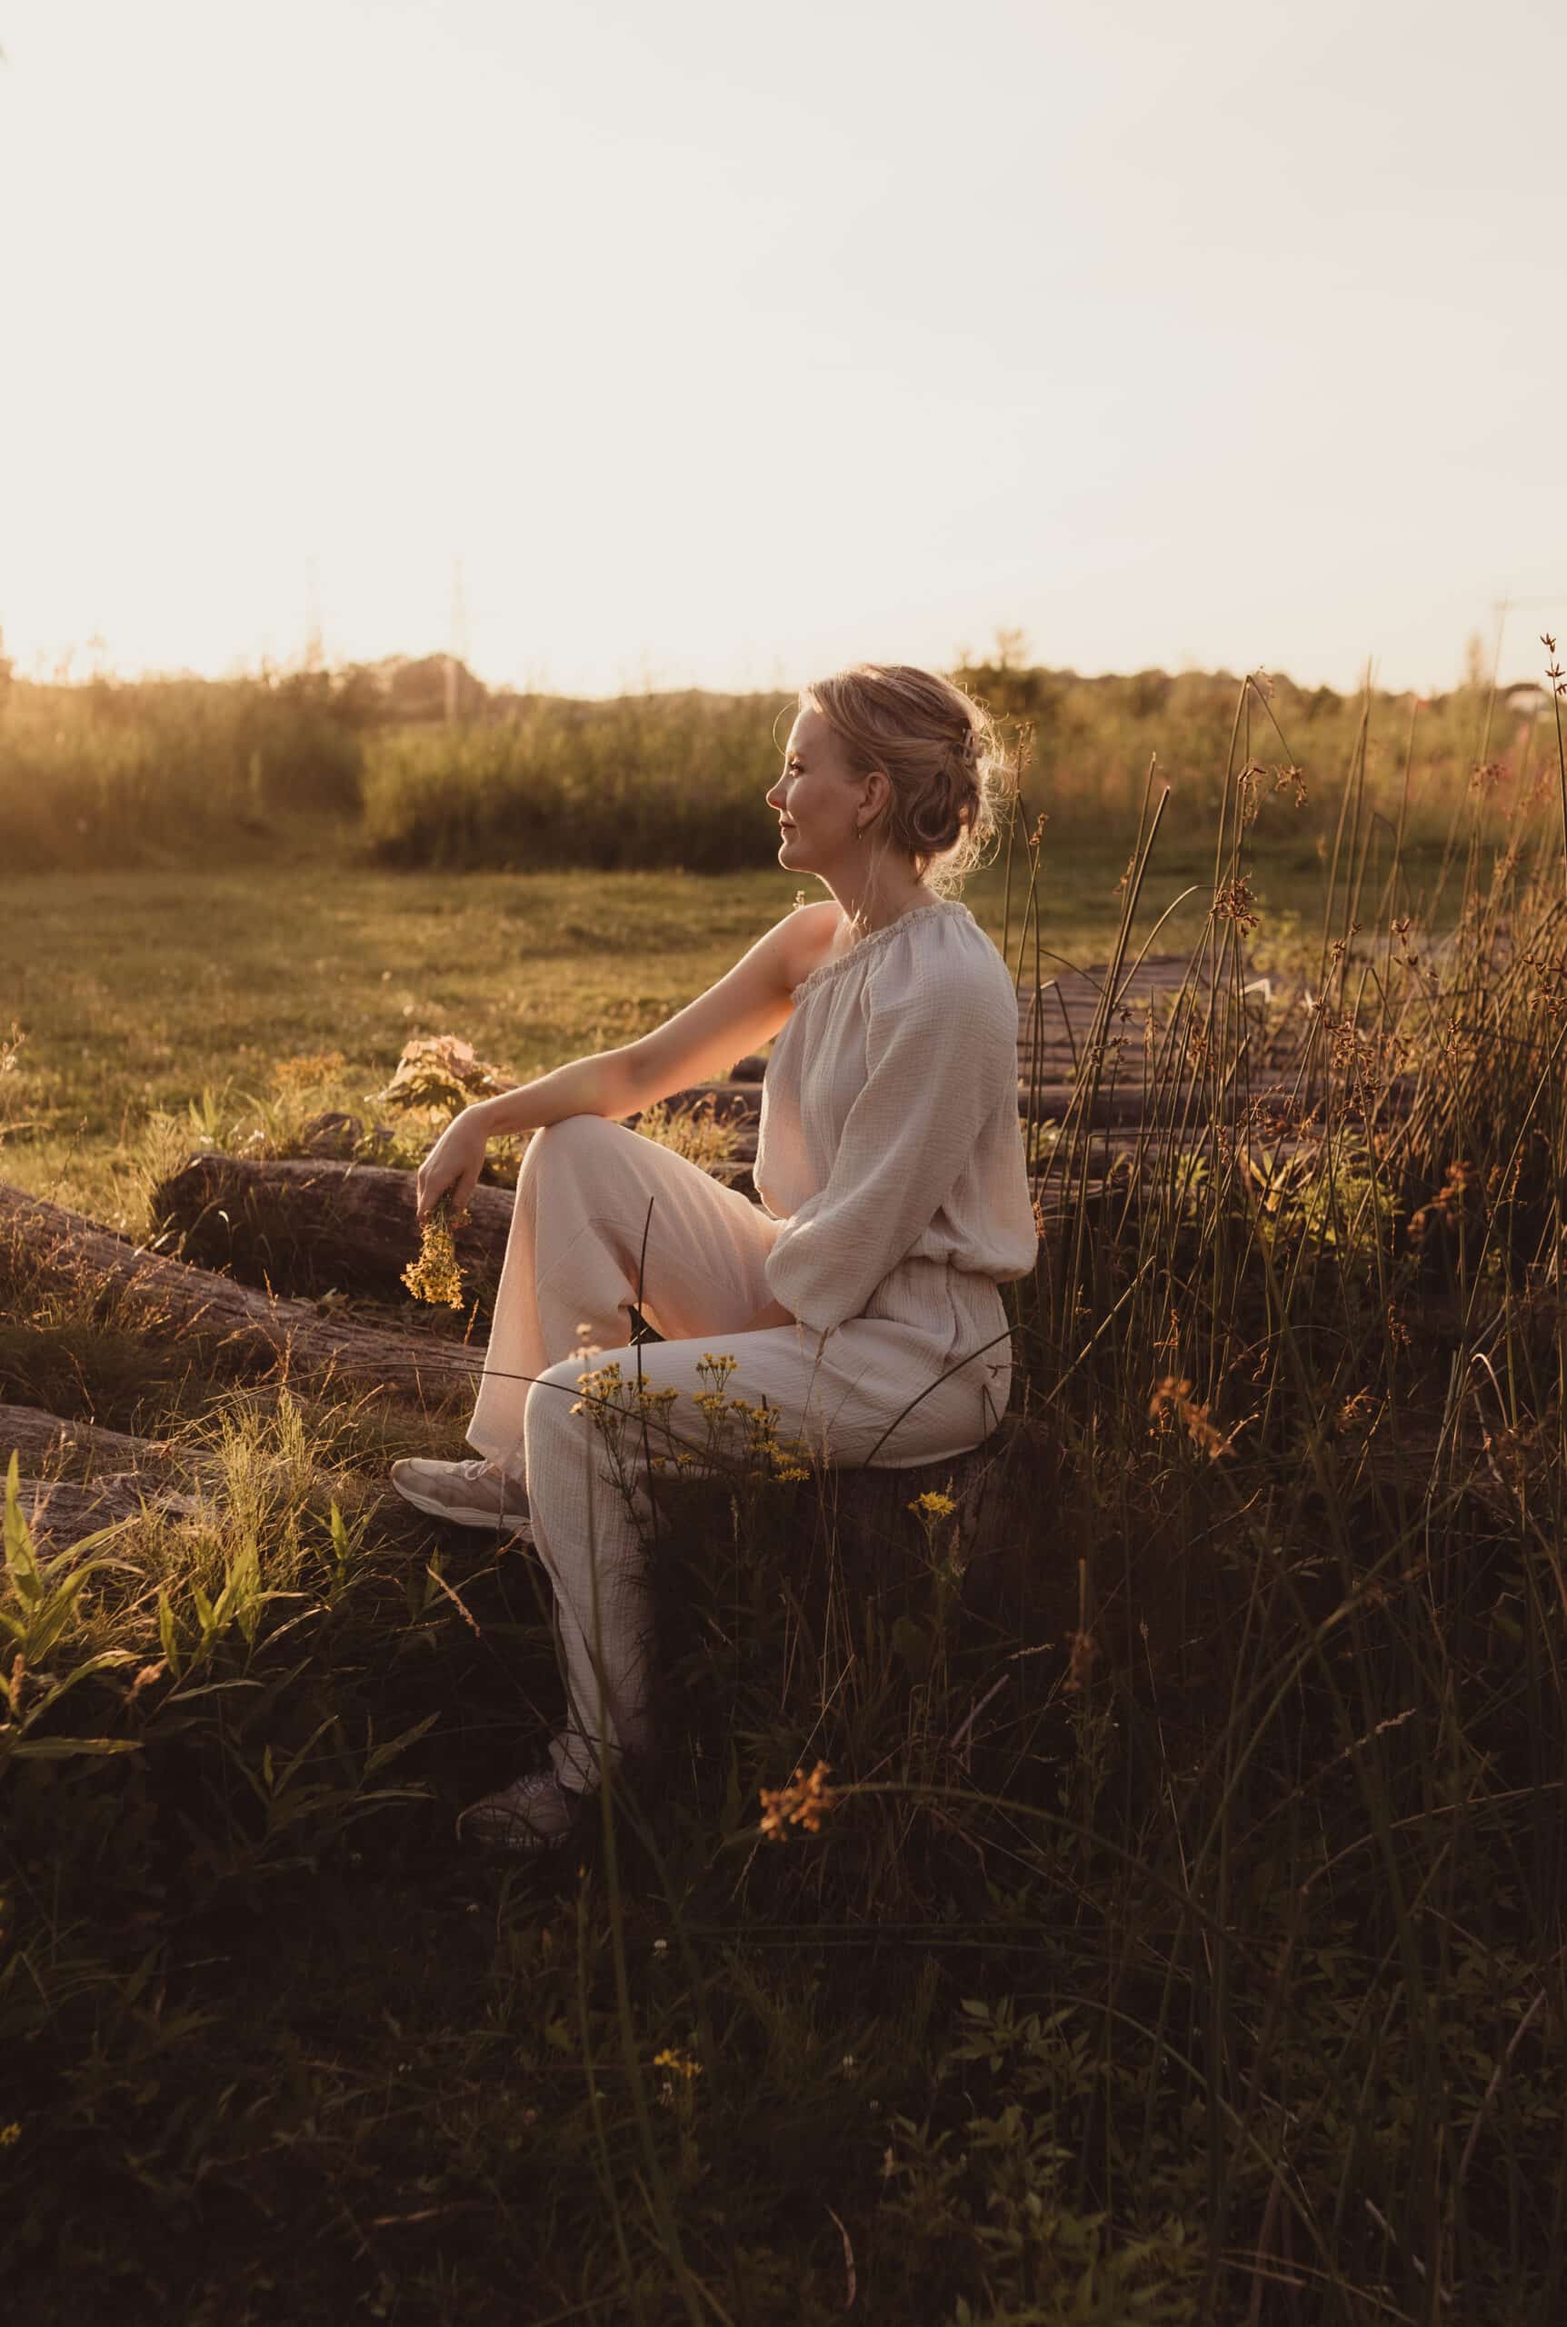
<path fill-rule="evenodd" d="M 1239 805 L 1220 1008 L 1160 1036 L 1215 1087 Z M 1104 1191 L 1038 1140 L 1078 1203 L 1015 1289 L 1004 1522 L 868 1557 L 831 1482 L 671 1492 L 668 1759 L 543 1883 L 449 1834 L 559 1713 L 538 1566 L 382 1489 L 456 1424 L 5 1257 L 0 1396 L 170 1433 L 198 1506 L 75 1592 L 7 1522 L 19 2315 L 1551 2327 L 1562 863 L 1411 963 L 1348 945 L 1362 831 L 1316 1129 Z"/>

